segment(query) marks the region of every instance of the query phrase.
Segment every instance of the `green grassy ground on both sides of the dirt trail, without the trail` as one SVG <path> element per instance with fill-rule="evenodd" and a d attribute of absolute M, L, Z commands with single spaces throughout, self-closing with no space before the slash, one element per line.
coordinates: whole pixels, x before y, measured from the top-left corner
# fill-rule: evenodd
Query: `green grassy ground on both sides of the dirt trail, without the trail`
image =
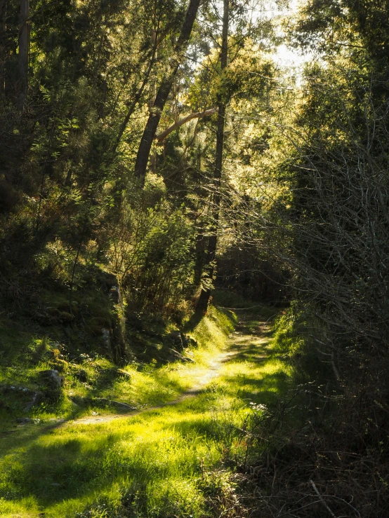
<path fill-rule="evenodd" d="M 231 460 L 245 455 L 239 428 L 262 411 L 258 404 L 272 404 L 291 384 L 291 367 L 271 355 L 270 330 L 261 329 L 266 319 L 251 315 L 234 333 L 235 316 L 213 308 L 192 329 L 197 347 L 188 353 L 195 364 L 155 367 L 150 362 L 141 370 L 129 364 L 124 370 L 131 379 L 107 375 L 103 382 L 96 365 L 112 365 L 85 358 L 88 375 L 97 376 L 92 388 L 72 381 L 56 407 L 34 411 L 41 418 L 38 424 L 19 427 L 10 416 L 3 421 L 0 515 L 216 516 L 210 501 L 217 500 L 219 508 L 227 506 L 235 491 Z M 194 386 L 226 347 L 218 377 L 198 395 L 147 410 L 146 405 L 175 400 Z M 102 412 L 74 407 L 68 398 L 88 391 L 121 398 L 145 411 L 109 423 L 74 423 L 77 415 Z M 65 421 L 50 421 L 52 417 Z"/>

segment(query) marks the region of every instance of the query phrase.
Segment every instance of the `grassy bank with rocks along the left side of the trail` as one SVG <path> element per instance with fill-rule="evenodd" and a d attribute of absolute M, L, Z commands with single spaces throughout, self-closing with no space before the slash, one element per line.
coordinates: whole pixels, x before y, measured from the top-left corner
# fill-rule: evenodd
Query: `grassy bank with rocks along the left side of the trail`
<path fill-rule="evenodd" d="M 25 413 L 23 409 L 32 395 L 22 390 L 14 390 L 13 393 L 8 391 L 6 400 L 9 408 L 4 409 L 0 404 L 0 430 L 20 415 L 47 420 L 74 418 L 90 414 L 91 411 L 117 412 L 117 407 L 98 401 L 98 398 L 126 402 L 139 409 L 174 400 L 201 376 L 201 372 L 225 345 L 225 337 L 233 326 L 232 313 L 211 308 L 209 315 L 192 329 L 190 336 L 195 342 L 201 343 L 201 347 L 192 346 L 185 354 L 196 362 L 195 369 L 181 362 L 158 366 L 154 361 L 155 348 L 150 342 L 152 351 L 145 355 L 143 362 L 132 362 L 122 369 L 128 375 L 122 375 L 112 362 L 97 353 L 77 353 L 75 358 L 73 354 L 72 360 L 65 353 L 69 361 L 62 361 L 62 374 L 66 381 L 62 397 L 55 401 L 46 398 L 32 411 Z M 0 326 L 4 360 L 0 366 L 0 386 L 39 390 L 39 372 L 59 368 L 58 362 L 61 360 L 53 357 L 60 352 L 58 343 L 39 333 L 39 328 L 25 331 L 9 325 Z M 83 374 L 81 379 L 80 372 Z"/>

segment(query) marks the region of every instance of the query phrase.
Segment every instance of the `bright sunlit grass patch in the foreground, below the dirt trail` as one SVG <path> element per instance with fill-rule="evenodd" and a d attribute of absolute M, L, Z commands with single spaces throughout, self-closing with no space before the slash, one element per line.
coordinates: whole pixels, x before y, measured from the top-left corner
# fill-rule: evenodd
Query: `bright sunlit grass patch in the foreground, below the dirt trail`
<path fill-rule="evenodd" d="M 4 459 L 0 488 L 34 496 L 53 517 L 66 516 L 67 500 L 81 511 L 118 485 L 133 487 L 140 516 L 159 516 L 161 506 L 166 512 L 174 502 L 176 511 L 188 513 L 183 516 L 198 517 L 204 511 L 199 477 L 204 465 L 217 466 L 231 447 L 231 427 L 240 421 L 236 405 L 211 390 L 177 407 L 105 425 L 63 425 Z"/>

